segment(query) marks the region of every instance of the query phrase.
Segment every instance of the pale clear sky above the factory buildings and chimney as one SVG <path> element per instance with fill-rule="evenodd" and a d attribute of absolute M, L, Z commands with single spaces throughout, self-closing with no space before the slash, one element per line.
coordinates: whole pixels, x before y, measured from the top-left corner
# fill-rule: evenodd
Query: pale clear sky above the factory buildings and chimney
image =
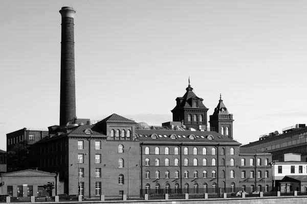
<path fill-rule="evenodd" d="M 307 123 L 307 1 L 0 0 L 0 149 L 59 123 L 63 6 L 76 10 L 78 118 L 161 125 L 190 77 L 208 118 L 222 93 L 242 144 Z"/>

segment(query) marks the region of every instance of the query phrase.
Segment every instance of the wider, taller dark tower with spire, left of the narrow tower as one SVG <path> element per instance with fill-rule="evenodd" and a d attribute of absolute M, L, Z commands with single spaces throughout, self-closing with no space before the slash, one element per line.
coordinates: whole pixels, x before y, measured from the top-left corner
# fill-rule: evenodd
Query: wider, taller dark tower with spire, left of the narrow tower
<path fill-rule="evenodd" d="M 195 95 L 193 88 L 189 84 L 186 93 L 182 97 L 177 97 L 176 107 L 171 110 L 173 121 L 182 122 L 187 128 L 195 130 L 207 129 L 207 111 L 209 110 L 203 104 L 203 98 Z"/>

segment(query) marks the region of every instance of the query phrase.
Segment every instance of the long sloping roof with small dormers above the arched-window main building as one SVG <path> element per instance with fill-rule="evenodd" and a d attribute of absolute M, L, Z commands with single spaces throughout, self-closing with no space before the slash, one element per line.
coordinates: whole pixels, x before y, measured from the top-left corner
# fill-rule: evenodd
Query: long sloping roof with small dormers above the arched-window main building
<path fill-rule="evenodd" d="M 140 142 L 187 142 L 187 143 L 233 143 L 240 145 L 239 142 L 223 136 L 216 132 L 211 131 L 176 131 L 176 130 L 135 130 Z M 156 134 L 158 137 L 151 138 L 152 134 Z M 176 139 L 171 139 L 171 135 L 176 135 Z M 194 139 L 190 139 L 189 136 L 194 135 Z M 207 136 L 211 135 L 212 140 Z M 185 136 L 185 137 L 183 137 Z"/>

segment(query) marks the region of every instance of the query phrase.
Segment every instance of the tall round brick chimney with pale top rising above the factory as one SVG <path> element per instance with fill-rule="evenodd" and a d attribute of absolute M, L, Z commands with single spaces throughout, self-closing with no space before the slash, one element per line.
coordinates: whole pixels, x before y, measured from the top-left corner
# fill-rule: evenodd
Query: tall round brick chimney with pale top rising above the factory
<path fill-rule="evenodd" d="M 76 118 L 75 86 L 75 39 L 72 7 L 62 7 L 61 32 L 61 85 L 60 85 L 60 125 L 73 122 Z"/>

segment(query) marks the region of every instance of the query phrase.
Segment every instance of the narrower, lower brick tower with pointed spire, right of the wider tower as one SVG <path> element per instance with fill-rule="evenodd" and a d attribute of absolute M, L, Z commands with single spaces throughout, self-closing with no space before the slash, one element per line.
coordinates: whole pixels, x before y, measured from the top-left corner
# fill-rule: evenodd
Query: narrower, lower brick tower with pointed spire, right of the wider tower
<path fill-rule="evenodd" d="M 220 100 L 218 100 L 217 107 L 214 109 L 214 113 L 210 115 L 210 127 L 214 127 L 214 131 L 225 135 L 229 138 L 233 138 L 233 122 L 232 114 L 229 114 L 228 109 L 223 103 L 222 94 L 220 94 Z"/>

